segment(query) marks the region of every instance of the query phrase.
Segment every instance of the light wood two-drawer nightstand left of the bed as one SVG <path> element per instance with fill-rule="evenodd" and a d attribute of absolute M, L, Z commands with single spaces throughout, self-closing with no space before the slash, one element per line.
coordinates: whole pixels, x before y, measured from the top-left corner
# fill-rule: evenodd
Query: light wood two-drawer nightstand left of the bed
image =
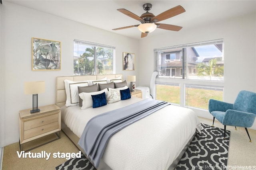
<path fill-rule="evenodd" d="M 60 139 L 61 131 L 61 112 L 60 107 L 55 104 L 39 107 L 40 111 L 30 113 L 31 109 L 20 110 L 20 150 L 22 151 L 22 144 L 56 133 L 57 139 Z M 54 139 L 52 141 L 55 141 Z M 49 141 L 47 143 L 50 143 Z M 42 145 L 45 145 L 44 143 Z M 39 145 L 37 147 L 40 147 Z M 32 149 L 35 149 L 34 147 Z M 32 150 L 29 149 L 29 150 Z M 29 151 L 26 150 L 25 152 Z"/>

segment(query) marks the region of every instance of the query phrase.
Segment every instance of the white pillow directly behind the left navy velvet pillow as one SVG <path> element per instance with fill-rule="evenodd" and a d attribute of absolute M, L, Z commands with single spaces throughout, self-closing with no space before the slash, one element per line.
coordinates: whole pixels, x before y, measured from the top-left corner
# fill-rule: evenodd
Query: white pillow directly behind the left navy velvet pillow
<path fill-rule="evenodd" d="M 92 95 L 96 95 L 96 94 L 102 94 L 103 92 L 105 92 L 105 94 L 108 92 L 108 89 L 103 89 L 97 92 L 90 92 L 90 93 L 79 93 L 80 98 L 83 100 L 83 105 L 81 107 L 81 109 L 87 109 L 89 107 L 92 107 Z"/>

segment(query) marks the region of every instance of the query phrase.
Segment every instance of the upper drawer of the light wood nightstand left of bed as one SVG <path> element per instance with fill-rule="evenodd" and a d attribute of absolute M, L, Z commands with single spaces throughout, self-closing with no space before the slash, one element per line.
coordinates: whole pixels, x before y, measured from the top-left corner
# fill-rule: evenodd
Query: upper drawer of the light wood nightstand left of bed
<path fill-rule="evenodd" d="M 30 121 L 25 121 L 24 122 L 24 131 L 58 121 L 58 113 L 59 112 L 57 111 L 56 114 L 54 114 L 54 115 L 40 117 L 38 119 L 33 119 Z"/>

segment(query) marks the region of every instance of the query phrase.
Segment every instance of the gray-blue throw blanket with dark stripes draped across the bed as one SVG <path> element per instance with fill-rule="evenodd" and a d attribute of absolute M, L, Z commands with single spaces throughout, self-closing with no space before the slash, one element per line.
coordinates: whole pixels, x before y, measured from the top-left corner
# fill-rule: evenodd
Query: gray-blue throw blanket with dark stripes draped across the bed
<path fill-rule="evenodd" d="M 112 135 L 167 105 L 169 105 L 167 102 L 146 99 L 97 115 L 86 124 L 78 145 L 84 149 L 88 158 L 97 168 Z"/>

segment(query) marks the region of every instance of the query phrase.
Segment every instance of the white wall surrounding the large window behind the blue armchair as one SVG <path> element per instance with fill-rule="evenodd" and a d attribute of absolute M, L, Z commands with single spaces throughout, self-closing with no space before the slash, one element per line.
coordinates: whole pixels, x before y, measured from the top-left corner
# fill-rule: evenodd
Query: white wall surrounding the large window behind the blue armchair
<path fill-rule="evenodd" d="M 154 71 L 153 49 L 224 39 L 224 101 L 233 103 L 240 90 L 256 92 L 256 14 L 231 18 L 201 27 L 182 28 L 158 37 L 140 40 L 140 86 L 147 86 Z M 142 76 L 143 75 L 143 76 Z M 172 82 L 171 79 L 168 81 Z M 175 81 L 175 80 L 173 80 Z M 199 116 L 212 118 L 208 111 L 194 109 Z M 256 122 L 252 129 L 256 129 Z"/>

